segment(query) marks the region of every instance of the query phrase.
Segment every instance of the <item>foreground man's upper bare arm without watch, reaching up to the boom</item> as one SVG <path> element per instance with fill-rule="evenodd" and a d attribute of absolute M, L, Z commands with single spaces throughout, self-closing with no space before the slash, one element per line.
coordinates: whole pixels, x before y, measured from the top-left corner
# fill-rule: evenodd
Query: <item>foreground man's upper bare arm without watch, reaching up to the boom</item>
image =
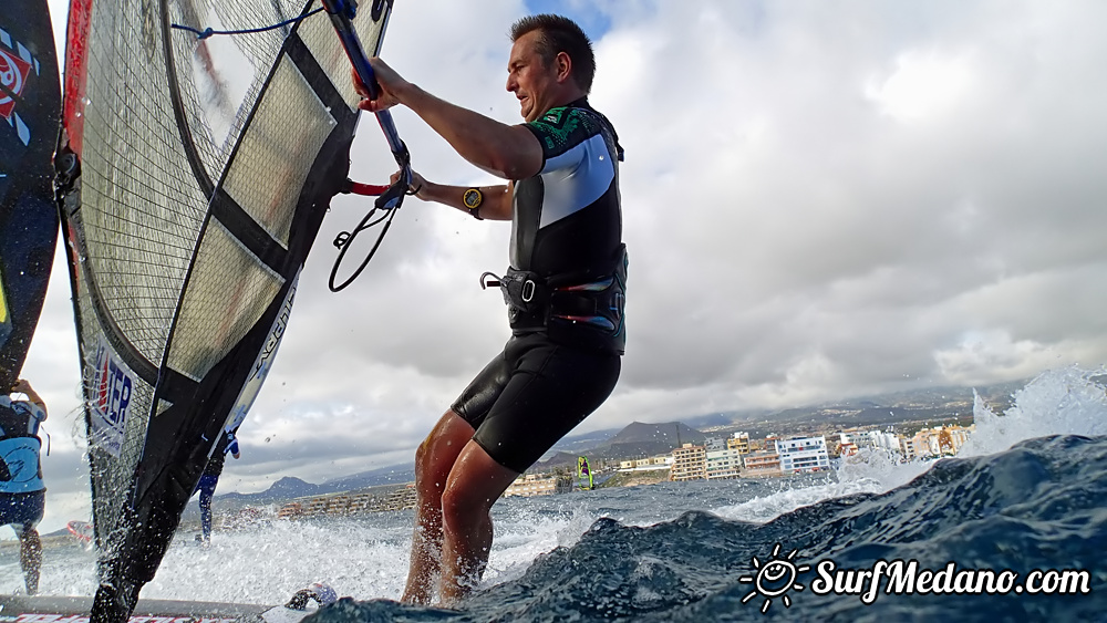
<path fill-rule="evenodd" d="M 423 118 L 463 158 L 504 179 L 526 179 L 542 167 L 538 138 L 521 125 L 507 125 L 480 113 L 451 104 L 400 76 L 384 61 L 370 59 L 381 93 L 364 100 L 360 107 L 370 112 L 403 104 Z M 368 95 L 354 76 L 359 93 Z M 483 214 L 482 214 L 483 216 Z"/>

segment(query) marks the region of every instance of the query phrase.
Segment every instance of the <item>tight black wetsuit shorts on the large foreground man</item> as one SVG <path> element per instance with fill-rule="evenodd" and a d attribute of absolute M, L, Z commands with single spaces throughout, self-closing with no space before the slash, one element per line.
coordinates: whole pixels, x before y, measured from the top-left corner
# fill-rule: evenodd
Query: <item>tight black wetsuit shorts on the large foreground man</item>
<path fill-rule="evenodd" d="M 621 365 L 619 355 L 557 344 L 541 332 L 516 335 L 452 408 L 488 456 L 521 474 L 607 399 Z"/>

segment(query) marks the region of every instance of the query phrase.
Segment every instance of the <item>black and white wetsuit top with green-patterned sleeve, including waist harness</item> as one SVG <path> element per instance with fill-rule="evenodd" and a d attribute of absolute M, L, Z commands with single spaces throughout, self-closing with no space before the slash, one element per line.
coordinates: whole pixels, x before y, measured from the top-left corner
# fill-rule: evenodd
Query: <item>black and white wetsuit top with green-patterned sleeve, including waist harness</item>
<path fill-rule="evenodd" d="M 625 247 L 615 131 L 586 98 L 525 127 L 541 144 L 542 168 L 515 184 L 511 268 L 537 273 L 555 294 L 545 313 L 513 310 L 513 331 L 545 330 L 557 342 L 622 354 Z M 570 292 L 589 300 L 570 300 Z"/>

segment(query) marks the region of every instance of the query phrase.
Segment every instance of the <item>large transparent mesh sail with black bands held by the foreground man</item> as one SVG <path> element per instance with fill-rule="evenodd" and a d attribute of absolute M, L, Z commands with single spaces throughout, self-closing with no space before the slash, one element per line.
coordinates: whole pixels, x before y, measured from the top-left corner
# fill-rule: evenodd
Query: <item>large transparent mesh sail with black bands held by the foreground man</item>
<path fill-rule="evenodd" d="M 356 15 L 371 53 L 391 6 Z M 93 621 L 126 620 L 153 578 L 257 396 L 346 181 L 359 96 L 330 23 L 307 17 L 318 8 L 71 1 L 59 196 L 101 552 Z"/>

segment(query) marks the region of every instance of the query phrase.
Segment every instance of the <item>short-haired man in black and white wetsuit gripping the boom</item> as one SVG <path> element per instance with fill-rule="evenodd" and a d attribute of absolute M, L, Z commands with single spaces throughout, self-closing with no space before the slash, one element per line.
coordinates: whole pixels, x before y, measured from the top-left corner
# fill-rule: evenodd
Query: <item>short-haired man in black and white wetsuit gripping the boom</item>
<path fill-rule="evenodd" d="M 507 90 L 525 120 L 506 125 L 431 95 L 380 59 L 381 93 L 465 159 L 507 185 L 465 188 L 415 174 L 411 189 L 480 220 L 513 221 L 510 268 L 495 283 L 513 336 L 446 411 L 415 454 L 416 509 L 405 602 L 444 604 L 473 590 L 488 561 L 489 510 L 523 471 L 611 394 L 623 352 L 625 247 L 622 149 L 588 103 L 591 42 L 558 15 L 511 27 Z M 356 76 L 354 79 L 356 84 Z M 359 92 L 368 97 L 363 85 Z"/>

